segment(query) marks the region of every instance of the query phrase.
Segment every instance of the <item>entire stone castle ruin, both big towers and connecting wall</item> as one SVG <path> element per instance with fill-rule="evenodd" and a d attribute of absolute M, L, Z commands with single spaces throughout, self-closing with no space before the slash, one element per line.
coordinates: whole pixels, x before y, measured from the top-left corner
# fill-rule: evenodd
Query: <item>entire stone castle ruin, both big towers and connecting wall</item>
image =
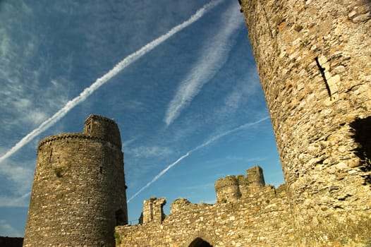
<path fill-rule="evenodd" d="M 371 246 L 371 1 L 240 3 L 285 185 L 253 167 L 128 226 L 120 133 L 91 115 L 39 143 L 24 246 Z"/>

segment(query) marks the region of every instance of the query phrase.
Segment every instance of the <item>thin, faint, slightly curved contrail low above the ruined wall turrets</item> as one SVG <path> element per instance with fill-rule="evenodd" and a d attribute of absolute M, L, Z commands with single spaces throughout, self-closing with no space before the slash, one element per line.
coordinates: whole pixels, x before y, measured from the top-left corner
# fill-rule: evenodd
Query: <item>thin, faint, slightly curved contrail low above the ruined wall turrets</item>
<path fill-rule="evenodd" d="M 205 143 L 202 143 L 201 145 L 198 145 L 197 147 L 193 148 L 193 150 L 188 151 L 185 155 L 183 155 L 182 157 L 180 157 L 179 159 L 177 159 L 176 162 L 174 162 L 172 164 L 169 164 L 169 166 L 167 166 L 165 169 L 163 169 L 159 174 L 157 174 L 154 177 L 154 179 L 152 179 L 150 182 L 148 182 L 145 186 L 143 186 L 142 188 L 140 188 L 140 190 L 137 193 L 135 193 L 134 195 L 132 195 L 128 199 L 128 203 L 130 203 L 130 200 L 133 200 L 137 195 L 139 195 L 146 188 L 150 187 L 150 185 L 152 183 L 154 183 L 155 181 L 157 181 L 157 179 L 159 179 L 160 177 L 162 177 L 166 173 L 166 171 L 169 171 L 169 169 L 171 169 L 171 167 L 174 167 L 176 164 L 178 164 L 179 162 L 181 162 L 182 159 L 184 159 L 185 157 L 188 157 L 192 152 L 195 152 L 197 150 L 200 150 L 202 147 L 206 147 L 207 145 L 210 145 L 211 143 L 214 143 L 214 141 L 219 140 L 220 138 L 222 138 L 222 137 L 224 137 L 226 135 L 229 135 L 229 134 L 231 134 L 233 132 L 236 132 L 236 131 L 241 131 L 241 130 L 246 129 L 246 128 L 250 128 L 250 127 L 255 126 L 258 123 L 261 123 L 262 121 L 265 121 L 267 119 L 269 119 L 269 116 L 265 116 L 264 118 L 259 119 L 258 121 L 255 121 L 253 123 L 245 123 L 245 124 L 243 124 L 241 126 L 238 126 L 237 128 L 231 129 L 230 131 L 226 131 L 226 132 L 221 133 L 219 135 L 215 135 L 212 138 L 210 138 L 209 140 L 207 140 Z"/>

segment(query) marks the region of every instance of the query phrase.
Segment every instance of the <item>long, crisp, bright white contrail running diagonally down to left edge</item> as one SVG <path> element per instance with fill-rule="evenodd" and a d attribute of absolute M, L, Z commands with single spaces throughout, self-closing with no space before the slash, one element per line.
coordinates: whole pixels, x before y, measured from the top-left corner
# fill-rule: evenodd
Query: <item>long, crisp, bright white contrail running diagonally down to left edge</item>
<path fill-rule="evenodd" d="M 175 35 L 177 32 L 183 30 L 184 28 L 187 28 L 189 25 L 194 23 L 196 20 L 200 19 L 202 16 L 207 13 L 210 9 L 214 8 L 218 4 L 221 3 L 222 0 L 217 0 L 217 1 L 210 1 L 209 4 L 205 4 L 200 8 L 198 11 L 196 11 L 193 16 L 191 16 L 188 20 L 185 20 L 183 23 L 176 25 L 174 28 L 171 28 L 169 32 L 166 32 L 166 34 L 158 37 L 156 40 L 153 40 L 152 42 L 146 44 L 144 47 L 140 48 L 138 51 L 126 56 L 125 59 L 121 60 L 114 68 L 111 68 L 109 72 L 104 74 L 101 78 L 97 78 L 90 87 L 85 88 L 83 92 L 80 93 L 77 97 L 75 97 L 73 100 L 70 100 L 66 103 L 66 105 L 60 109 L 58 112 L 56 112 L 53 116 L 51 116 L 49 119 L 44 121 L 39 125 L 39 127 L 35 128 L 33 131 L 28 133 L 28 135 L 25 135 L 22 140 L 20 140 L 16 145 L 11 147 L 8 152 L 6 152 L 4 155 L 0 157 L 0 163 L 3 162 L 5 159 L 13 155 L 15 152 L 20 150 L 21 147 L 26 145 L 27 143 L 30 142 L 33 138 L 35 138 L 37 135 L 40 133 L 46 131 L 48 128 L 54 125 L 59 119 L 61 119 L 63 116 L 65 116 L 73 107 L 78 105 L 79 103 L 83 102 L 86 100 L 87 97 L 89 97 L 95 90 L 100 88 L 104 83 L 107 83 L 111 78 L 116 76 L 119 72 L 121 72 L 124 68 L 129 66 L 130 64 L 133 64 L 133 62 L 137 61 L 140 59 L 142 56 L 150 52 L 152 49 L 157 47 L 159 44 L 162 44 L 165 40 L 169 39 L 169 37 Z"/>

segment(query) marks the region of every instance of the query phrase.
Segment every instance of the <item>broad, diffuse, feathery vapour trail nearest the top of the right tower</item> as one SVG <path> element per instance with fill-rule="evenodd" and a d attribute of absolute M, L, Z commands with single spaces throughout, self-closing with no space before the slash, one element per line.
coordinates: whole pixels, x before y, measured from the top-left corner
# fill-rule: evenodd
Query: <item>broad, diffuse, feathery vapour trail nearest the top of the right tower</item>
<path fill-rule="evenodd" d="M 231 4 L 229 8 L 236 8 Z M 203 85 L 209 82 L 226 63 L 229 52 L 233 47 L 231 37 L 243 24 L 243 18 L 237 16 L 236 11 L 231 9 L 225 12 L 223 27 L 213 36 L 211 41 L 205 42 L 205 49 L 200 58 L 190 69 L 186 78 L 179 84 L 173 100 L 169 103 L 164 116 L 166 126 L 169 126 L 181 111 L 192 102 L 193 98 L 200 92 Z"/>

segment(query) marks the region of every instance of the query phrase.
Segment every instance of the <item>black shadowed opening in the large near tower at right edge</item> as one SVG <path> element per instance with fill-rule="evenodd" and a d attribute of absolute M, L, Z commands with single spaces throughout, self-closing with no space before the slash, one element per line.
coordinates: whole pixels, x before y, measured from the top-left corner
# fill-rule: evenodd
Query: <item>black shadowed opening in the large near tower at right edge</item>
<path fill-rule="evenodd" d="M 355 150 L 355 155 L 360 157 L 363 162 L 360 169 L 365 172 L 371 171 L 371 116 L 365 119 L 355 119 L 351 123 L 351 127 L 354 130 L 355 142 L 360 144 Z M 371 184 L 370 174 L 365 176 L 365 182 Z"/>

